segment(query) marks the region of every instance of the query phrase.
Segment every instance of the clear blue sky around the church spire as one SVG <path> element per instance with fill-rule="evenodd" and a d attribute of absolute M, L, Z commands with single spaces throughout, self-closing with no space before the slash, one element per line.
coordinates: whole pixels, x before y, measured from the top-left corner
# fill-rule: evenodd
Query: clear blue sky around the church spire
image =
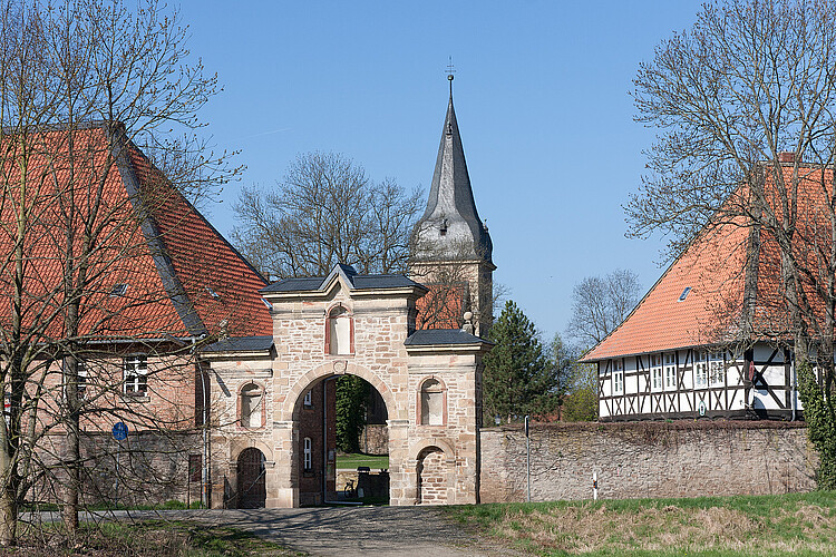
<path fill-rule="evenodd" d="M 655 134 L 633 121 L 629 92 L 638 65 L 699 4 L 187 0 L 188 47 L 224 88 L 201 117 L 247 167 L 205 212 L 229 236 L 242 185 L 274 185 L 310 150 L 428 189 L 453 57 L 495 281 L 548 339 L 583 277 L 630 268 L 649 289 L 662 273 L 661 238 L 624 237 L 622 205 Z"/>

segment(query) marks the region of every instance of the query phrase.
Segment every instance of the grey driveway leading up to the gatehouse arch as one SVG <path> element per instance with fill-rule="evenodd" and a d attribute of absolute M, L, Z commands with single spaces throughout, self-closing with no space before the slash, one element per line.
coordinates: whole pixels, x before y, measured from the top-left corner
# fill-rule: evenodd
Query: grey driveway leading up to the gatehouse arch
<path fill-rule="evenodd" d="M 318 556 L 519 555 L 479 540 L 432 507 L 218 510 L 189 518 L 247 530 Z"/>

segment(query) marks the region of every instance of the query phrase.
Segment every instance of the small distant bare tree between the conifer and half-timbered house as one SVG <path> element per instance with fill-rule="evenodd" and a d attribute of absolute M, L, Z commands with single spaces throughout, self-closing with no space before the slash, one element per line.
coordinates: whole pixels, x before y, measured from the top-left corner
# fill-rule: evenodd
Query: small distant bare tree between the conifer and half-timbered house
<path fill-rule="evenodd" d="M 616 268 L 604 276 L 587 276 L 572 291 L 567 335 L 583 346 L 594 346 L 628 316 L 639 296 L 641 285 L 632 271 Z"/>

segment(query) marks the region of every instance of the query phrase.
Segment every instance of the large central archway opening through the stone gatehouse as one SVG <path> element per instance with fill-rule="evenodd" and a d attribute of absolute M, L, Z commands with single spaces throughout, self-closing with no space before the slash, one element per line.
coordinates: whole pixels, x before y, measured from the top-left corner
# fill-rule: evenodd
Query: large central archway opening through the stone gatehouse
<path fill-rule="evenodd" d="M 380 392 L 359 375 L 304 388 L 293 411 L 299 504 L 388 504 L 388 418 Z"/>

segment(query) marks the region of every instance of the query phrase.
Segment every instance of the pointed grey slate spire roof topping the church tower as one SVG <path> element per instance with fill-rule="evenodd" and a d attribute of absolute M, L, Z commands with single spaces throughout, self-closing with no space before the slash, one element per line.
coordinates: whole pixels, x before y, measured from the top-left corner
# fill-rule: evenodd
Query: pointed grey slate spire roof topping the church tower
<path fill-rule="evenodd" d="M 430 261 L 482 260 L 490 262 L 493 243 L 487 226 L 479 219 L 465 163 L 456 111 L 453 108 L 453 75 L 447 115 L 441 128 L 441 143 L 436 158 L 436 170 L 429 189 L 424 216 L 418 221 L 418 258 Z M 421 246 L 431 244 L 427 250 Z"/>

